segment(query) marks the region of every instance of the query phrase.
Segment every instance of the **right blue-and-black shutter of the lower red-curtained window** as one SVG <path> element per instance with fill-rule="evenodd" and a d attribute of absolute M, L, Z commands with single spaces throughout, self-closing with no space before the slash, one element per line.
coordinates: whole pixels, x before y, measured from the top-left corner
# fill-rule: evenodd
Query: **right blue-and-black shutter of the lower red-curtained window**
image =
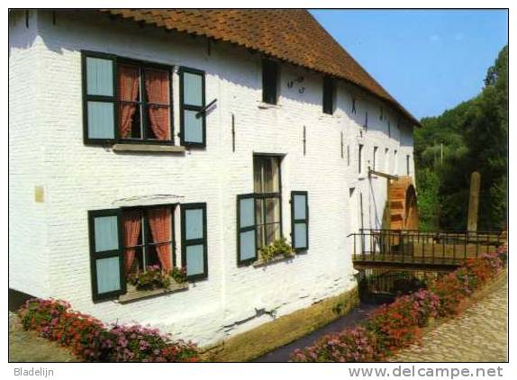
<path fill-rule="evenodd" d="M 181 262 L 187 279 L 208 276 L 206 204 L 181 204 Z"/>

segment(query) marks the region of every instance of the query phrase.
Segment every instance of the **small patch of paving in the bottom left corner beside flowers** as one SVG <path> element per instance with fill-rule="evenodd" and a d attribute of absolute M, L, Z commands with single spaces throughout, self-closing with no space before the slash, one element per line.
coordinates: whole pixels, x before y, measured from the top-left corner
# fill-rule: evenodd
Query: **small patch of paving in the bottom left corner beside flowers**
<path fill-rule="evenodd" d="M 10 362 L 76 362 L 77 357 L 56 342 L 38 337 L 22 328 L 14 312 L 9 312 Z"/>

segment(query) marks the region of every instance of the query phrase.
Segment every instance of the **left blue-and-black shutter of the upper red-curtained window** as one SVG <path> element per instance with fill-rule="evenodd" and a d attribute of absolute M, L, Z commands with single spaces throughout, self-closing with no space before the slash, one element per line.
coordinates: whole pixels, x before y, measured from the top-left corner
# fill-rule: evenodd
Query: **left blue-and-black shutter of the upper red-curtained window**
<path fill-rule="evenodd" d="M 82 77 L 85 143 L 113 142 L 118 135 L 115 57 L 82 51 Z"/>

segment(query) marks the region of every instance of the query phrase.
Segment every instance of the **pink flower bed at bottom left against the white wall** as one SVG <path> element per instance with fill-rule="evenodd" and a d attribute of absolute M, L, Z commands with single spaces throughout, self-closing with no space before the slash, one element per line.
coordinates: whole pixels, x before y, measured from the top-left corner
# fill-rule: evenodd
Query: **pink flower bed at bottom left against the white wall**
<path fill-rule="evenodd" d="M 71 310 L 64 301 L 28 300 L 18 316 L 25 330 L 36 330 L 86 361 L 199 361 L 192 342 L 174 341 L 168 334 L 140 325 L 106 327 L 90 315 Z"/>

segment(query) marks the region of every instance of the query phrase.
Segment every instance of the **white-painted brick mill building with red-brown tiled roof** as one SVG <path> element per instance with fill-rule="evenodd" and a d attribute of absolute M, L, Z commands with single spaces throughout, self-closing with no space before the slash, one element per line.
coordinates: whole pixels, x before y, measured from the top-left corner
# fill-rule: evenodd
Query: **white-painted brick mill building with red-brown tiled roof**
<path fill-rule="evenodd" d="M 195 11 L 177 23 L 209 32 L 165 11 L 10 15 L 10 288 L 207 345 L 356 285 L 347 236 L 380 228 L 386 200 L 367 167 L 411 176 L 418 122 L 355 61 L 318 57 L 346 53 L 309 14 L 246 12 L 313 34 L 218 38 Z M 295 257 L 260 264 L 255 246 L 293 229 Z M 186 289 L 124 302 L 150 264 L 186 267 Z"/>

